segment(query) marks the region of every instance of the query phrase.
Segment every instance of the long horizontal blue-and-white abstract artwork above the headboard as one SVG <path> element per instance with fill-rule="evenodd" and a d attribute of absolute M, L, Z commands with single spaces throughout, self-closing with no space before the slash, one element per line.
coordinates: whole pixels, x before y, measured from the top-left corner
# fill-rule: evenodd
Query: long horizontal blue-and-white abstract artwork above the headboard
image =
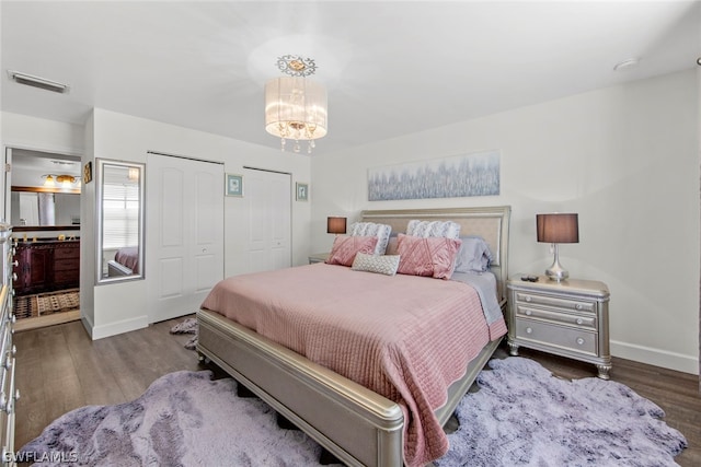
<path fill-rule="evenodd" d="M 368 200 L 499 194 L 499 151 L 368 168 Z"/>

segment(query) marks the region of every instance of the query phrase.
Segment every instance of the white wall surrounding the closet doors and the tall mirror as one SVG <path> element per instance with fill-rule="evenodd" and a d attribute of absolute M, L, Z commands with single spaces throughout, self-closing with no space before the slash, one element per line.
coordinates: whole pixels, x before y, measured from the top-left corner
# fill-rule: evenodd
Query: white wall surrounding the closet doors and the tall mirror
<path fill-rule="evenodd" d="M 156 151 L 222 162 L 227 173 L 240 174 L 243 166 L 287 172 L 292 174 L 292 185 L 295 182 L 308 182 L 310 177 L 309 156 L 281 153 L 276 149 L 275 141 L 271 141 L 269 148 L 258 147 L 100 108 L 93 110 L 92 129 L 94 157 L 147 162 L 147 152 Z M 148 165 L 146 170 L 148 171 Z M 245 187 L 245 179 L 243 183 Z M 222 179 L 222 197 L 225 196 L 223 184 Z M 94 186 L 94 184 L 89 185 Z M 241 198 L 225 198 L 225 276 L 246 271 L 243 258 L 248 247 L 249 225 L 243 207 Z M 310 217 L 310 203 L 292 201 L 294 265 L 300 265 L 307 260 L 309 252 L 307 225 Z M 148 234 L 146 232 L 146 248 L 148 248 Z M 95 261 L 94 253 L 94 247 L 87 253 L 90 255 L 89 260 L 93 262 Z M 81 260 L 81 262 L 84 261 Z M 94 320 L 88 325 L 93 339 L 138 329 L 148 324 L 146 310 L 147 288 L 150 284 L 148 267 L 148 264 L 145 264 L 145 280 L 94 287 Z M 82 287 L 81 282 L 81 289 Z"/>

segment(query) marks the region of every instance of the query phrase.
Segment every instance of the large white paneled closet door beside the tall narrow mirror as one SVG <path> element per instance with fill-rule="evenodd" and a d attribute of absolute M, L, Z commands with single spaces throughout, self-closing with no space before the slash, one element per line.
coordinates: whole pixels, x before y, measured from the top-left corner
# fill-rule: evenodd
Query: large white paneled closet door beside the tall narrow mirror
<path fill-rule="evenodd" d="M 149 154 L 149 322 L 195 313 L 223 278 L 223 165 Z"/>

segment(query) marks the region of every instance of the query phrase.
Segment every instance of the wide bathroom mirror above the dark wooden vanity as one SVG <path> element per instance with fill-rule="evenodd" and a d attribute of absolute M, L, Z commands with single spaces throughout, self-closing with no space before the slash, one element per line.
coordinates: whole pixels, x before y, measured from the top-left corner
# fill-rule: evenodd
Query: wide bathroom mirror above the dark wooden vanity
<path fill-rule="evenodd" d="M 65 230 L 80 229 L 79 190 L 66 192 L 13 186 L 10 202 L 11 223 L 15 230 L 51 226 Z"/>

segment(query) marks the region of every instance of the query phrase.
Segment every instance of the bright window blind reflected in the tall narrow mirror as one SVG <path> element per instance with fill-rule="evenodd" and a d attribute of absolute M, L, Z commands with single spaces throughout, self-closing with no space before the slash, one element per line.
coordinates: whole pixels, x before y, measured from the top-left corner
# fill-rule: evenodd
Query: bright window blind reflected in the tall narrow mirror
<path fill-rule="evenodd" d="M 103 185 L 103 248 L 122 248 L 139 244 L 139 185 Z"/>

